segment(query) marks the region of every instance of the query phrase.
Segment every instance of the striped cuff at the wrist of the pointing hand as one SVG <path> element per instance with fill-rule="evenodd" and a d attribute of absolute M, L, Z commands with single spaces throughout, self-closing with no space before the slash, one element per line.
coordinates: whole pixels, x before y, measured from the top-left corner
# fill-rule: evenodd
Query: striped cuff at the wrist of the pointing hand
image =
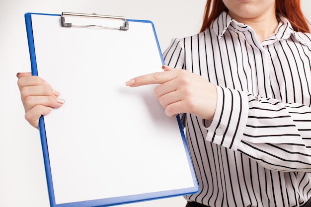
<path fill-rule="evenodd" d="M 248 118 L 248 98 L 245 92 L 217 88 L 217 107 L 206 140 L 233 150 L 237 149 Z"/>

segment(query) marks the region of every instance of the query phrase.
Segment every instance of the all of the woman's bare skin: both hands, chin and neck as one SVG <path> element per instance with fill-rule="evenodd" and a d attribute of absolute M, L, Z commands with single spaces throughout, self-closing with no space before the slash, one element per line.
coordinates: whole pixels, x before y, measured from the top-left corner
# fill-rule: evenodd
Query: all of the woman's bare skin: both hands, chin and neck
<path fill-rule="evenodd" d="M 251 26 L 262 42 L 278 26 L 275 0 L 223 0 L 229 14 L 237 21 Z M 158 84 L 155 95 L 167 116 L 191 113 L 206 120 L 213 120 L 217 106 L 216 86 L 200 75 L 182 69 L 163 66 L 163 71 L 134 77 L 126 82 L 129 87 Z M 25 119 L 35 128 L 41 115 L 64 104 L 60 93 L 50 84 L 30 72 L 19 72 L 18 87 L 25 108 Z"/>

